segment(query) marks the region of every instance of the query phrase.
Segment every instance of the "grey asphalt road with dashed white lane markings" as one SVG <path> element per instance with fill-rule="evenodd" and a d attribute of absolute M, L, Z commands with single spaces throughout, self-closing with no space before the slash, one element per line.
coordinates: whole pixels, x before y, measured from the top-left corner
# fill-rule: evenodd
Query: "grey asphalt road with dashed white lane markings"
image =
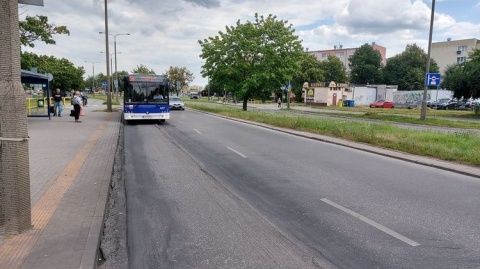
<path fill-rule="evenodd" d="M 480 180 L 193 111 L 125 126 L 130 268 L 479 268 Z"/>

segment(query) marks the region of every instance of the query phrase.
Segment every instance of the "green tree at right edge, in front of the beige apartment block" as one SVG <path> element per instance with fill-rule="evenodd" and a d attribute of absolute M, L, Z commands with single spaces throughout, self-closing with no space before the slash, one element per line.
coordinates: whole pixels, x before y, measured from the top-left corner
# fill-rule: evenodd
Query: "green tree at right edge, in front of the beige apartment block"
<path fill-rule="evenodd" d="M 456 98 L 480 97 L 480 49 L 475 49 L 464 63 L 447 67 L 440 87 L 453 91 Z"/>

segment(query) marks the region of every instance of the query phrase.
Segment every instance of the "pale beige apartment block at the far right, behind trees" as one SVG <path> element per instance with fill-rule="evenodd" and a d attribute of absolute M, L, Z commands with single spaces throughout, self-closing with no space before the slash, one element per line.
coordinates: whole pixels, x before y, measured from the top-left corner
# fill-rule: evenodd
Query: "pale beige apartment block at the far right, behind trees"
<path fill-rule="evenodd" d="M 480 48 L 476 38 L 451 40 L 432 43 L 430 57 L 437 62 L 440 73 L 444 74 L 449 65 L 467 61 L 468 54 Z"/>

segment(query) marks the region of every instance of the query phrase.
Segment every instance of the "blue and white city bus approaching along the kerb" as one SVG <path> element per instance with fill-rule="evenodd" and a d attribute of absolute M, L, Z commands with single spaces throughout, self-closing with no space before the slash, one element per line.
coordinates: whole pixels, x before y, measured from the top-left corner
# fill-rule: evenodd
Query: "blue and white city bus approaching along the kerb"
<path fill-rule="evenodd" d="M 160 120 L 170 118 L 171 84 L 165 75 L 131 74 L 123 85 L 123 118 L 134 120 Z"/>

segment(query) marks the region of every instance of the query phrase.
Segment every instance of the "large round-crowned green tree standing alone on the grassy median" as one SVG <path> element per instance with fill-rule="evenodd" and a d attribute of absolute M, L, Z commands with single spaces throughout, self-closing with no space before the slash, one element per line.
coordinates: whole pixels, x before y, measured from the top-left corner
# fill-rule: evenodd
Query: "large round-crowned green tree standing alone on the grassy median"
<path fill-rule="evenodd" d="M 254 21 L 226 26 L 218 36 L 199 40 L 202 75 L 243 100 L 263 99 L 298 73 L 303 47 L 288 21 L 255 14 Z"/>

